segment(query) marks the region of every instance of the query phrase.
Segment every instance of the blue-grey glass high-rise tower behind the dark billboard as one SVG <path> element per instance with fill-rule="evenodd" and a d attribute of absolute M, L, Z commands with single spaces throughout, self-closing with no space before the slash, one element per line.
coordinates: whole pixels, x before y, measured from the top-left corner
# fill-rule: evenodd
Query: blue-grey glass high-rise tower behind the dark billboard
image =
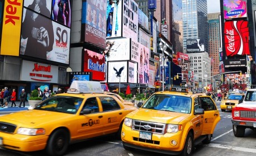
<path fill-rule="evenodd" d="M 182 0 L 183 52 L 187 52 L 187 40 L 200 39 L 203 51 L 208 51 L 207 1 Z M 202 52 L 202 51 L 201 51 Z M 187 52 L 190 53 L 190 52 Z"/>

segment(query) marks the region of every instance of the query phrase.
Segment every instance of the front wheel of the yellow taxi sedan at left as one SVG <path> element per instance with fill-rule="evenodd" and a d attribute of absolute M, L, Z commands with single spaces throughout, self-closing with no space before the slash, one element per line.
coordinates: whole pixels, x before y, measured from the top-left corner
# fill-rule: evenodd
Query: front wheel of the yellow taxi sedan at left
<path fill-rule="evenodd" d="M 67 130 L 59 129 L 54 131 L 48 140 L 46 152 L 49 155 L 63 155 L 69 145 L 69 134 Z"/>

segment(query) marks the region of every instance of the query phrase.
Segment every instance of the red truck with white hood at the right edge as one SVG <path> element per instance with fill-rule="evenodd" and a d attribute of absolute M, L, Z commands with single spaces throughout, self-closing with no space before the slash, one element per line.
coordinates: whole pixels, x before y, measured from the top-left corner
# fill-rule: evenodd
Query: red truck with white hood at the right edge
<path fill-rule="evenodd" d="M 243 103 L 232 109 L 231 121 L 236 137 L 243 137 L 246 128 L 256 131 L 256 89 L 246 91 Z"/>

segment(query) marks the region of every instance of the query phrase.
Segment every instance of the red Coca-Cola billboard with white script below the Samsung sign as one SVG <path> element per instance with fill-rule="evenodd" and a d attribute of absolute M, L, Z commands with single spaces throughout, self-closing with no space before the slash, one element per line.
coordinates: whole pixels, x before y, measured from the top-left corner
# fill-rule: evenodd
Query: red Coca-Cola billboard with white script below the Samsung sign
<path fill-rule="evenodd" d="M 226 56 L 250 55 L 248 21 L 226 21 L 224 24 Z"/>

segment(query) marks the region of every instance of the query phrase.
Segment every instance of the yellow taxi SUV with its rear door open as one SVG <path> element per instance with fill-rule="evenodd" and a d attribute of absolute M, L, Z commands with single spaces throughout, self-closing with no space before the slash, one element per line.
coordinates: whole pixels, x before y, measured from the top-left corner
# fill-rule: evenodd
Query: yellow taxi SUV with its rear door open
<path fill-rule="evenodd" d="M 121 131 L 126 150 L 191 155 L 195 144 L 210 143 L 220 113 L 214 100 L 183 88 L 156 92 L 126 115 Z"/>

